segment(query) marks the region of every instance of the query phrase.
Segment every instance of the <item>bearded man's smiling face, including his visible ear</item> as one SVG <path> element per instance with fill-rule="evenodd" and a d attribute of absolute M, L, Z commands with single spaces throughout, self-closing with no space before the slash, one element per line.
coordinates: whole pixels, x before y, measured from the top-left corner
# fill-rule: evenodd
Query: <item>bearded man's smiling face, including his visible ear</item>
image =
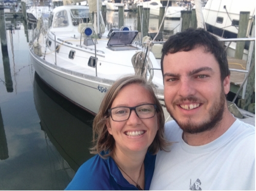
<path fill-rule="evenodd" d="M 182 130 L 203 132 L 220 122 L 229 76 L 221 82 L 220 67 L 204 47 L 164 56 L 163 81 L 167 110 Z"/>

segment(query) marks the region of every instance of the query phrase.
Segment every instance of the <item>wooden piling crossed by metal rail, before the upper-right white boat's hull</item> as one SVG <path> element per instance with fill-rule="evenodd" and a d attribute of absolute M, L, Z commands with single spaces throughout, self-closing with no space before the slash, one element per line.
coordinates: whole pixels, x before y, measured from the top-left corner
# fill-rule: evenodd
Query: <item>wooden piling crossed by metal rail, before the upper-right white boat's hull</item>
<path fill-rule="evenodd" d="M 250 12 L 245 12 L 245 11 L 240 12 L 239 29 L 238 29 L 238 33 L 237 33 L 237 38 L 245 38 L 246 37 L 249 16 L 250 16 Z M 245 48 L 245 41 L 236 42 L 235 55 L 234 55 L 235 59 L 241 59 L 241 60 L 243 59 L 244 48 Z"/>

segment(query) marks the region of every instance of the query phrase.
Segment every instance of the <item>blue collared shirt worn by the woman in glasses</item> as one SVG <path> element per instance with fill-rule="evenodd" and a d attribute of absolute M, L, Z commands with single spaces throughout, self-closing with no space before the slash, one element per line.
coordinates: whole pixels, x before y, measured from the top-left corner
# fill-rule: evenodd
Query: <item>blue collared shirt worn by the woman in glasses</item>
<path fill-rule="evenodd" d="M 156 155 L 147 152 L 144 159 L 145 190 L 150 188 L 155 160 Z M 123 178 L 112 157 L 102 159 L 96 155 L 80 166 L 65 190 L 138 190 L 138 188 Z"/>

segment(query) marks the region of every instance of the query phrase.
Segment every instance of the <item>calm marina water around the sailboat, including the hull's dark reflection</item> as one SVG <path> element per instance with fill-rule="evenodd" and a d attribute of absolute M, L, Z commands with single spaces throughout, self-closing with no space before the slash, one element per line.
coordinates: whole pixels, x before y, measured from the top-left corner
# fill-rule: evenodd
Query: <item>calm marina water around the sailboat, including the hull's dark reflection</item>
<path fill-rule="evenodd" d="M 125 13 L 125 25 L 135 29 L 136 17 Z M 117 25 L 118 12 L 107 12 L 107 21 Z M 175 31 L 179 21 L 165 25 Z M 157 26 L 151 18 L 150 31 Z M 0 59 L 0 189 L 63 190 L 92 157 L 93 116 L 40 80 L 29 58 L 32 32 L 18 28 L 6 30 L 8 56 L 1 51 Z"/>

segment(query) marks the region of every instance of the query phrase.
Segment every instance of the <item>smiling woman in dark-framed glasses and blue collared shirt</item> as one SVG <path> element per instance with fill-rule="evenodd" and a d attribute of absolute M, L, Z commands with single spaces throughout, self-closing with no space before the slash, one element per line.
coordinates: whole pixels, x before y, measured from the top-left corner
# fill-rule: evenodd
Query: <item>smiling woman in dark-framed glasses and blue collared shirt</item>
<path fill-rule="evenodd" d="M 154 90 L 136 76 L 116 81 L 93 123 L 93 158 L 66 189 L 148 190 L 156 153 L 165 150 L 164 116 Z"/>

